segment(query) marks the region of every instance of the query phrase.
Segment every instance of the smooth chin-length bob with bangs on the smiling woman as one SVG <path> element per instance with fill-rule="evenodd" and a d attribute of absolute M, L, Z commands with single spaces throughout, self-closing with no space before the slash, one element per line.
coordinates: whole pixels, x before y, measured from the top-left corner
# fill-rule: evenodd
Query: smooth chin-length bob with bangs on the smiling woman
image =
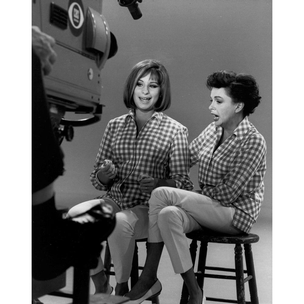
<path fill-rule="evenodd" d="M 171 105 L 171 88 L 168 72 L 159 61 L 151 59 L 143 60 L 134 65 L 126 80 L 123 90 L 123 102 L 128 109 L 136 109 L 133 100 L 135 87 L 139 79 L 147 76 L 149 73 L 151 73 L 150 79 L 157 81 L 161 88 L 159 98 L 154 105 L 154 110 L 160 112 L 169 109 Z"/>

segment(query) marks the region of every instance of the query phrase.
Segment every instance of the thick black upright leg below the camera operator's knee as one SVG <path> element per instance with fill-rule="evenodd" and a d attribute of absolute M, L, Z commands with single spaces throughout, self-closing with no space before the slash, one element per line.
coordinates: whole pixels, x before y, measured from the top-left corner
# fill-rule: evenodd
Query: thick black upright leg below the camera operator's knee
<path fill-rule="evenodd" d="M 90 269 L 87 265 L 74 267 L 73 304 L 88 304 L 90 289 Z"/>

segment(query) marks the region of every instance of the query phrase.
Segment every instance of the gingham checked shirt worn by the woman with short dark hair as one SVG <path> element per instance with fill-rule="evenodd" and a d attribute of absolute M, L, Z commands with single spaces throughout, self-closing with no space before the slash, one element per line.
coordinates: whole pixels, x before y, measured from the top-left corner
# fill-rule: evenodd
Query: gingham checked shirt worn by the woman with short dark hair
<path fill-rule="evenodd" d="M 233 226 L 249 233 L 264 195 L 266 143 L 247 116 L 216 151 L 223 128 L 211 123 L 190 144 L 190 167 L 199 163 L 202 194 L 234 206 Z"/>

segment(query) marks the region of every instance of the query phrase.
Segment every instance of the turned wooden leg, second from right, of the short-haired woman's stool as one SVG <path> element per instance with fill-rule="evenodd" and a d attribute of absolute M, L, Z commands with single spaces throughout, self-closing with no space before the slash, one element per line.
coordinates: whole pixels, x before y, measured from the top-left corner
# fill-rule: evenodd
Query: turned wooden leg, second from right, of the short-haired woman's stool
<path fill-rule="evenodd" d="M 237 303 L 245 304 L 245 288 L 244 288 L 244 267 L 241 244 L 235 244 L 234 261 L 235 261 L 235 276 L 237 286 Z"/>

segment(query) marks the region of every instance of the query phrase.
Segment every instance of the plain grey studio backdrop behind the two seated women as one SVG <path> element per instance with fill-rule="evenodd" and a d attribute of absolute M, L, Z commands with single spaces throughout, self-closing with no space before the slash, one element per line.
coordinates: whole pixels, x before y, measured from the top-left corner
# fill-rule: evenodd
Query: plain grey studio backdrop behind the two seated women
<path fill-rule="evenodd" d="M 160 60 L 167 68 L 172 103 L 168 116 L 188 128 L 189 143 L 212 122 L 210 91 L 205 82 L 217 70 L 252 74 L 261 104 L 249 120 L 267 144 L 265 195 L 260 218 L 272 212 L 272 2 L 268 0 L 143 0 L 143 16 L 133 20 L 117 1 L 103 1 L 102 14 L 116 36 L 118 52 L 107 60 L 102 75 L 100 122 L 74 128 L 64 140 L 64 176 L 56 181 L 57 205 L 74 206 L 99 195 L 89 175 L 110 119 L 128 112 L 123 85 L 131 67 L 144 59 Z M 71 116 L 69 116 L 71 117 Z M 81 118 L 84 118 L 81 116 Z M 191 178 L 198 185 L 198 168 Z"/>

